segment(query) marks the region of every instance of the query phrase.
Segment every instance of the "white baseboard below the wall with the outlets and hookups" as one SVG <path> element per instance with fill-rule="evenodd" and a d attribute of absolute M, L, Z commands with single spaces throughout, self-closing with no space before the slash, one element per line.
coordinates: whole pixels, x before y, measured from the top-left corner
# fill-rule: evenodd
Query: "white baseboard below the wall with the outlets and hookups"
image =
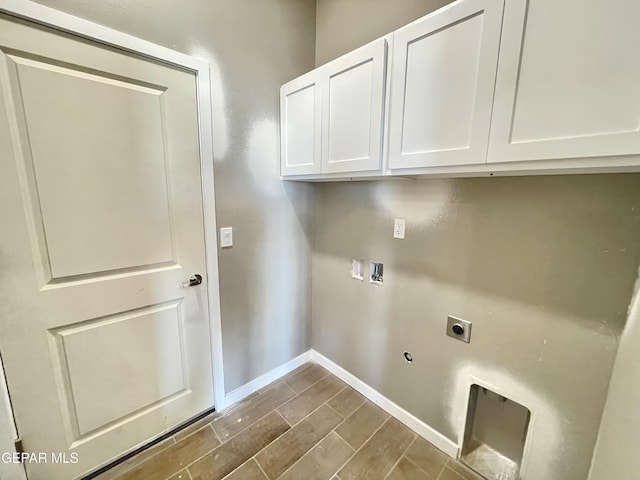
<path fill-rule="evenodd" d="M 333 373 L 340 380 L 360 392 L 373 403 L 385 410 L 389 415 L 404 423 L 407 427 L 409 427 L 411 430 L 416 432 L 428 442 L 438 447 L 444 453 L 452 458 L 457 458 L 458 445 L 455 442 L 448 439 L 437 430 L 434 430 L 422 420 L 411 415 L 405 409 L 399 407 L 387 397 L 379 393 L 377 390 L 374 390 L 362 380 L 347 372 L 344 368 L 333 363 L 321 353 L 318 353 L 315 350 L 311 350 L 310 352 L 311 360 L 329 370 L 329 372 Z"/>

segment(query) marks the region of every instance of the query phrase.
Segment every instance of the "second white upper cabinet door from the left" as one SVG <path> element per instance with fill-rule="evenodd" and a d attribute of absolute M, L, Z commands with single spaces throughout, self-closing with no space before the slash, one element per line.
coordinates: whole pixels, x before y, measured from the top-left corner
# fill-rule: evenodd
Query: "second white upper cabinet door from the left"
<path fill-rule="evenodd" d="M 381 170 L 387 42 L 321 67 L 322 173 Z"/>

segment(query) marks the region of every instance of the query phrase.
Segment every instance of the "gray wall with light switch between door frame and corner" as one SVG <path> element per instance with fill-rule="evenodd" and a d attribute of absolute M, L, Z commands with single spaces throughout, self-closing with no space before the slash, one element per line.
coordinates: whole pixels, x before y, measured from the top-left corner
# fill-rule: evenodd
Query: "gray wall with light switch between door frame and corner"
<path fill-rule="evenodd" d="M 279 179 L 279 87 L 313 68 L 313 0 L 41 0 L 207 60 L 227 391 L 310 346 L 313 191 Z"/>

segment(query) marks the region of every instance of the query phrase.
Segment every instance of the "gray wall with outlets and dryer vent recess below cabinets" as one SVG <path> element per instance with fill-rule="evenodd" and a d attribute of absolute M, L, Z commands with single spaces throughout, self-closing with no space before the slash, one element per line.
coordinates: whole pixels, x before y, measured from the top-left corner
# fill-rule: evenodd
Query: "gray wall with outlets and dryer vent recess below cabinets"
<path fill-rule="evenodd" d="M 525 479 L 584 480 L 640 262 L 640 175 L 318 193 L 314 349 L 453 441 L 470 376 L 513 392 L 540 433 Z M 384 285 L 352 280 L 353 257 L 383 262 Z M 473 322 L 470 344 L 447 315 Z"/>

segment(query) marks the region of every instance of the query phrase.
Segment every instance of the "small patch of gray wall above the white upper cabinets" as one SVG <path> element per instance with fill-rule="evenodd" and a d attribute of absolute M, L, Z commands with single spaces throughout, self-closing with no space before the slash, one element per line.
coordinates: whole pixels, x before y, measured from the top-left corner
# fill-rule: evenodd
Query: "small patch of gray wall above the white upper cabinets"
<path fill-rule="evenodd" d="M 316 66 L 382 37 L 451 0 L 317 0 Z"/>

